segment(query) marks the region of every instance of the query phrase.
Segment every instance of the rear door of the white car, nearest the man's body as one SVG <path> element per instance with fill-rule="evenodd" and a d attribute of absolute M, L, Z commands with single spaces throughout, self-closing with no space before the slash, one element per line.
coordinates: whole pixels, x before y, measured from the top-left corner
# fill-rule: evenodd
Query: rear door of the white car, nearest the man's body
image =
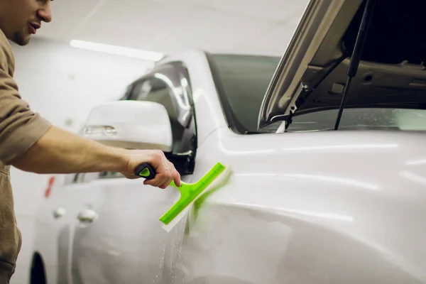
<path fill-rule="evenodd" d="M 84 201 L 84 174 L 55 175 L 36 214 L 35 249 L 45 263 L 49 283 L 70 283 L 70 241 L 75 214 Z"/>

